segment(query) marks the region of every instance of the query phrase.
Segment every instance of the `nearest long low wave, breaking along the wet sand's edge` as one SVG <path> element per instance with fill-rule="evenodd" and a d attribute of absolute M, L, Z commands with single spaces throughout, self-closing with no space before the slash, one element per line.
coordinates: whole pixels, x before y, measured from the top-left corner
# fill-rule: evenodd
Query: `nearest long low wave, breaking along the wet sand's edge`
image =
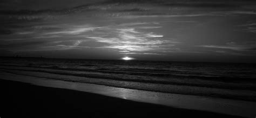
<path fill-rule="evenodd" d="M 237 90 L 237 89 L 221 89 L 221 88 L 210 88 L 210 87 L 198 87 L 198 86 L 184 86 L 184 85 L 168 85 L 168 84 L 152 84 L 145 82 L 136 81 L 122 81 L 122 80 L 106 80 L 106 79 L 94 79 L 94 78 L 83 78 L 73 77 L 70 75 L 59 75 L 59 74 L 48 74 L 42 72 L 25 72 L 25 71 L 4 71 L 18 75 L 26 75 L 37 78 L 48 78 L 72 82 L 85 82 L 90 84 L 140 89 L 145 91 L 155 91 L 164 93 L 177 93 L 177 94 L 189 94 L 189 95 L 200 95 L 200 96 L 212 96 L 216 98 L 228 98 L 238 99 L 247 101 L 256 101 L 256 92 L 248 90 Z"/>

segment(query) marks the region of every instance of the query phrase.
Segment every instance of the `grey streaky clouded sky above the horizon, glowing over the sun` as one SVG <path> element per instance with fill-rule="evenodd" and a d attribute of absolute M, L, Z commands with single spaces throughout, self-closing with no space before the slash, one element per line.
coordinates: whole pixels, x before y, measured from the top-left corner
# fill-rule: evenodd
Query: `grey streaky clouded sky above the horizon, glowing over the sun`
<path fill-rule="evenodd" d="M 256 2 L 2 0 L 1 56 L 256 63 Z"/>

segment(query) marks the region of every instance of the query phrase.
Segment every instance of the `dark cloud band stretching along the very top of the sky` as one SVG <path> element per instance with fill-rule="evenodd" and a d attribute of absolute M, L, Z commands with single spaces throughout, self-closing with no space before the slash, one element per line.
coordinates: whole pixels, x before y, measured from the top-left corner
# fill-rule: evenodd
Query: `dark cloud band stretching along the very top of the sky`
<path fill-rule="evenodd" d="M 23 0 L 23 1 L 24 2 L 18 2 L 18 3 L 23 3 L 23 4 L 34 3 L 32 6 L 35 6 L 35 3 L 38 2 L 38 1 L 28 1 L 28 0 Z M 58 2 L 58 1 L 55 1 L 55 2 Z M 59 1 L 59 2 L 62 2 L 62 1 Z M 100 10 L 97 8 L 105 7 L 105 6 L 110 7 L 108 9 L 111 9 L 111 7 L 114 7 L 116 5 L 122 5 L 122 4 L 152 4 L 152 5 L 164 5 L 164 6 L 172 6 L 172 7 L 196 7 L 196 8 L 238 8 L 244 5 L 256 4 L 256 2 L 253 2 L 253 1 L 240 1 L 240 0 L 237 0 L 237 1 L 109 0 L 104 2 L 102 1 L 87 2 L 87 3 L 83 1 L 79 1 L 79 2 L 84 4 L 83 5 L 79 4 L 73 7 L 71 7 L 71 5 L 69 4 L 66 4 L 66 6 L 63 5 L 63 7 L 60 7 L 59 9 L 54 9 L 54 8 L 52 9 L 48 7 L 49 6 L 48 4 L 45 4 L 45 7 L 43 7 L 44 4 L 41 4 L 42 9 L 36 9 L 36 10 L 30 9 L 30 7 L 32 6 L 29 6 L 29 5 L 25 5 L 27 7 L 24 7 L 24 9 L 8 9 L 6 7 L 6 9 L 2 8 L 2 10 L 0 10 L 0 14 L 1 15 L 38 15 L 42 13 L 76 13 L 76 12 L 82 12 L 82 11 Z M 0 4 L 7 4 L 7 3 L 9 2 L 5 1 Z M 53 4 L 53 5 L 58 5 L 58 4 Z M 108 6 L 108 5 L 112 5 L 112 6 Z M 17 6 L 20 6 L 20 4 L 17 4 Z M 93 7 L 93 6 L 98 6 L 98 7 Z M 145 9 L 132 8 L 124 11 L 145 11 Z"/>

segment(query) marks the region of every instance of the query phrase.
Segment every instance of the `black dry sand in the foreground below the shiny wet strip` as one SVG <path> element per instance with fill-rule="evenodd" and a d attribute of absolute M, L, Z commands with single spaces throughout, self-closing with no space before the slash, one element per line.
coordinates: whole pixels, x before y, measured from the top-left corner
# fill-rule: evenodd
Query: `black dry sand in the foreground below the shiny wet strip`
<path fill-rule="evenodd" d="M 237 117 L 0 80 L 0 117 Z"/>

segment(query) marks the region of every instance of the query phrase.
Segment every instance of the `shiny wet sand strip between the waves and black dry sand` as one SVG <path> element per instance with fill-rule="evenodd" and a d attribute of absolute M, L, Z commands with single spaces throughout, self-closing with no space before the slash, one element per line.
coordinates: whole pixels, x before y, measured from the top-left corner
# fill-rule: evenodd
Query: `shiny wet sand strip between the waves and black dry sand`
<path fill-rule="evenodd" d="M 151 105 L 163 106 L 167 108 L 193 109 L 205 113 L 229 114 L 235 116 L 255 117 L 255 102 L 238 101 L 229 99 L 216 99 L 209 97 L 201 97 L 195 95 L 167 94 L 150 91 L 139 91 L 135 89 L 126 89 L 118 87 L 109 87 L 103 85 L 85 84 L 79 82 L 68 82 L 62 80 L 51 80 L 25 75 L 16 75 L 1 72 L 1 79 L 19 81 L 32 84 L 31 86 L 50 87 L 48 89 L 66 89 L 67 91 L 82 91 L 82 93 L 100 94 L 111 99 L 120 99 L 138 103 L 149 103 Z M 4 81 L 5 81 L 4 80 Z M 1 82 L 2 85 L 2 82 Z M 17 85 L 17 84 L 16 84 Z M 2 85 L 5 86 L 6 85 Z M 12 86 L 14 87 L 14 86 Z M 10 87 L 9 87 L 10 88 Z M 19 88 L 15 86 L 12 91 Z M 4 89 L 4 88 L 2 88 Z M 64 92 L 65 93 L 65 92 Z M 56 97 L 55 97 L 56 98 Z M 146 107 L 145 107 L 146 108 Z M 142 110 L 142 109 L 138 109 Z M 157 109 L 156 109 L 157 110 Z M 192 110 L 192 111 L 193 111 Z M 160 110 L 158 110 L 160 112 Z M 208 112 L 206 112 L 208 111 Z M 208 116 L 207 116 L 208 117 Z"/>

